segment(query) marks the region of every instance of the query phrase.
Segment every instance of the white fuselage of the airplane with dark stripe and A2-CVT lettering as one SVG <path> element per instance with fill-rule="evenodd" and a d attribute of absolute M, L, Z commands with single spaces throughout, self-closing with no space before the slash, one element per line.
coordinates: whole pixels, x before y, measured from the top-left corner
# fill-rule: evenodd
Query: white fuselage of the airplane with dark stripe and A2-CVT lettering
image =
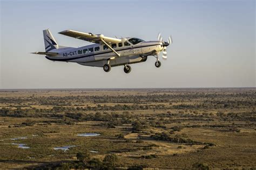
<path fill-rule="evenodd" d="M 60 62 L 75 62 L 86 66 L 103 67 L 109 63 L 111 66 L 126 65 L 132 63 L 145 62 L 147 56 L 158 55 L 163 50 L 163 43 L 160 41 L 141 42 L 133 45 L 124 38 L 121 43 L 117 43 L 112 48 L 119 53 L 117 56 L 104 44 L 92 44 L 83 47 L 59 47 L 51 50 L 58 52 L 58 55 L 46 58 Z"/>

